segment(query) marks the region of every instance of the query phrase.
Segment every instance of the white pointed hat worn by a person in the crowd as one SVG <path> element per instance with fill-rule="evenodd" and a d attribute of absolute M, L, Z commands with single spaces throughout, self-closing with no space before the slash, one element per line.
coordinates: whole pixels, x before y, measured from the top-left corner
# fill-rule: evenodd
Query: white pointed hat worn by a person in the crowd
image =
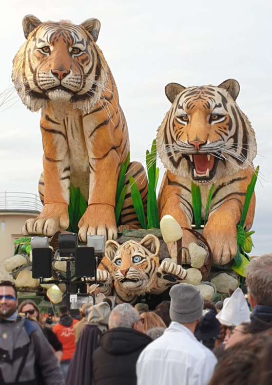
<path fill-rule="evenodd" d="M 243 322 L 250 322 L 250 311 L 240 287 L 231 297 L 224 299 L 222 310 L 216 318 L 226 326 L 238 326 Z"/>

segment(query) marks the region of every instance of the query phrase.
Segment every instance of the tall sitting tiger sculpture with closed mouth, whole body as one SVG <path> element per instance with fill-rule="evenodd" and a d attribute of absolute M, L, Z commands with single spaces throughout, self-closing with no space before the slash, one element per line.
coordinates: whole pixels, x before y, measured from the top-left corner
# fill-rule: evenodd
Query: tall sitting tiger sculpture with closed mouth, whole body
<path fill-rule="evenodd" d="M 23 234 L 50 236 L 68 227 L 71 182 L 88 202 L 79 223 L 81 240 L 95 234 L 116 238 L 116 183 L 129 138 L 113 76 L 95 44 L 100 22 L 42 23 L 27 15 L 23 29 L 27 40 L 14 57 L 12 81 L 27 108 L 42 109 L 44 148 L 38 186 L 44 209 L 27 220 Z M 141 171 L 133 163 L 128 174 Z M 138 185 L 146 198 L 146 178 L 138 178 Z M 131 206 L 128 193 L 121 213 L 126 228 L 139 224 Z"/>

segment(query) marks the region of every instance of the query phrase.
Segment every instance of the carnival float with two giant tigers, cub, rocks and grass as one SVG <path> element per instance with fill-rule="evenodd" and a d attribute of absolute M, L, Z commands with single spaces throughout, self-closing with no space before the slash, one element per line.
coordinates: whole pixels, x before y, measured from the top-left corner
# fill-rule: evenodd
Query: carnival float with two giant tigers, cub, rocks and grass
<path fill-rule="evenodd" d="M 66 262 L 56 257 L 41 284 L 32 278 L 31 251 L 31 237 L 41 236 L 57 253 L 62 233 L 78 234 L 81 245 L 105 237 L 96 277 L 84 282 L 118 303 L 156 304 L 180 282 L 197 285 L 209 300 L 243 286 L 259 168 L 254 130 L 236 103 L 239 83 L 167 84 L 170 108 L 144 168 L 130 160 L 118 90 L 96 44 L 100 22 L 43 23 L 27 15 L 23 29 L 12 81 L 26 107 L 41 110 L 44 208 L 25 223 L 25 238 L 6 260 L 16 286 L 62 301 L 66 288 L 56 281 Z M 165 168 L 159 188 L 158 158 Z"/>

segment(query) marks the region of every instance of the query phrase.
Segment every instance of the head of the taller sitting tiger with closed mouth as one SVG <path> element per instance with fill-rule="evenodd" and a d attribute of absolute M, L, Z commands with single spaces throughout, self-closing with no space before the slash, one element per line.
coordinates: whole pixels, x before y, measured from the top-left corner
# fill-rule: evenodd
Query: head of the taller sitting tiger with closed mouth
<path fill-rule="evenodd" d="M 13 59 L 12 81 L 23 103 L 37 111 L 49 101 L 69 102 L 89 112 L 105 86 L 109 71 L 95 44 L 100 22 L 42 23 L 23 19 L 26 42 Z"/>

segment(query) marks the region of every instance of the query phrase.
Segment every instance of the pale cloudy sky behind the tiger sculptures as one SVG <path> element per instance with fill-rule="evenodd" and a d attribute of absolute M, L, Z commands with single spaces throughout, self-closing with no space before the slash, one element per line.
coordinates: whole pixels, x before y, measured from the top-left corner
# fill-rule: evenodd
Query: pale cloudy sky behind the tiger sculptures
<path fill-rule="evenodd" d="M 97 44 L 118 86 L 130 136 L 131 160 L 145 151 L 170 108 L 164 87 L 240 83 L 237 103 L 256 132 L 261 178 L 252 229 L 252 255 L 272 252 L 272 3 L 259 0 L 10 0 L 0 23 L 0 93 L 11 85 L 12 59 L 24 43 L 22 19 L 98 18 Z M 3 98 L 0 96 L 0 104 Z M 23 106 L 16 92 L 0 107 L 0 192 L 36 192 L 42 170 L 39 114 Z M 161 177 L 163 175 L 161 168 Z"/>

